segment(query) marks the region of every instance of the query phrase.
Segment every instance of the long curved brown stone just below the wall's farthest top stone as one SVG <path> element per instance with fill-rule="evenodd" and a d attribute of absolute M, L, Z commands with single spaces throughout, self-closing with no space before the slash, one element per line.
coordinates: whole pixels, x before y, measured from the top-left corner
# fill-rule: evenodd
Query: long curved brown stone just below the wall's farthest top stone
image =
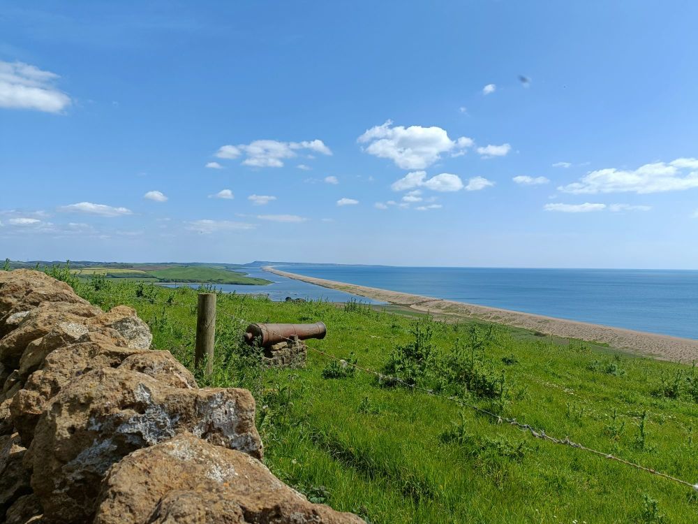
<path fill-rule="evenodd" d="M 29 342 L 43 337 L 59 323 L 84 324 L 96 308 L 82 304 L 42 304 L 31 310 L 17 328 L 0 340 L 0 362 L 16 369 Z"/>

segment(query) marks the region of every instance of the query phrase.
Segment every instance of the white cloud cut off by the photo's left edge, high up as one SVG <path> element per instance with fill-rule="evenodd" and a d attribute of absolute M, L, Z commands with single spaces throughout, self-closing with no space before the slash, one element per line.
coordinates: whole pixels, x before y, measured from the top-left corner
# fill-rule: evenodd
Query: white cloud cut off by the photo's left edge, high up
<path fill-rule="evenodd" d="M 70 97 L 53 86 L 58 78 L 23 62 L 0 61 L 0 108 L 61 112 Z"/>

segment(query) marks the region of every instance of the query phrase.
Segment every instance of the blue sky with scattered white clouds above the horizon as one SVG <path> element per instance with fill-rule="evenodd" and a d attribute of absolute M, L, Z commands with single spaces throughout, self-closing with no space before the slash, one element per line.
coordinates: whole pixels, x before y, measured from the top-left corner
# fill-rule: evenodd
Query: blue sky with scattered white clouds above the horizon
<path fill-rule="evenodd" d="M 695 20 L 4 0 L 0 257 L 698 269 Z"/>

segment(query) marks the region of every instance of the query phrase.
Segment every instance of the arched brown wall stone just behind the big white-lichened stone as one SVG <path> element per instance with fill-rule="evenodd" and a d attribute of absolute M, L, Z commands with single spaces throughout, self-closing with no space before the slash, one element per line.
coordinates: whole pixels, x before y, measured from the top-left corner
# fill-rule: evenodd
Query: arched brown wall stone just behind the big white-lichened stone
<path fill-rule="evenodd" d="M 112 338 L 98 333 L 89 336 L 91 342 L 68 345 L 48 354 L 41 369 L 32 373 L 14 396 L 10 408 L 13 423 L 25 446 L 34 439 L 34 428 L 46 402 L 66 384 L 91 370 L 118 367 L 127 358 L 142 353 L 141 349 L 117 347 Z M 119 337 L 117 342 L 121 340 Z"/>

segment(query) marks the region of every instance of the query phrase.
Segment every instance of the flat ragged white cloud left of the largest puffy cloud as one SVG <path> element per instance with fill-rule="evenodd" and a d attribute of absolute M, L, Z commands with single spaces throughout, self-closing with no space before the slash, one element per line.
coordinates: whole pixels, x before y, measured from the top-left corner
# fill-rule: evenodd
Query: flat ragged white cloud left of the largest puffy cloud
<path fill-rule="evenodd" d="M 255 140 L 249 144 L 224 145 L 216 157 L 236 159 L 242 154 L 245 166 L 258 168 L 281 168 L 285 159 L 297 157 L 297 150 L 309 150 L 315 153 L 331 155 L 332 151 L 322 140 L 304 140 L 303 142 L 279 142 L 278 140 Z M 303 166 L 304 164 L 301 164 Z"/>

